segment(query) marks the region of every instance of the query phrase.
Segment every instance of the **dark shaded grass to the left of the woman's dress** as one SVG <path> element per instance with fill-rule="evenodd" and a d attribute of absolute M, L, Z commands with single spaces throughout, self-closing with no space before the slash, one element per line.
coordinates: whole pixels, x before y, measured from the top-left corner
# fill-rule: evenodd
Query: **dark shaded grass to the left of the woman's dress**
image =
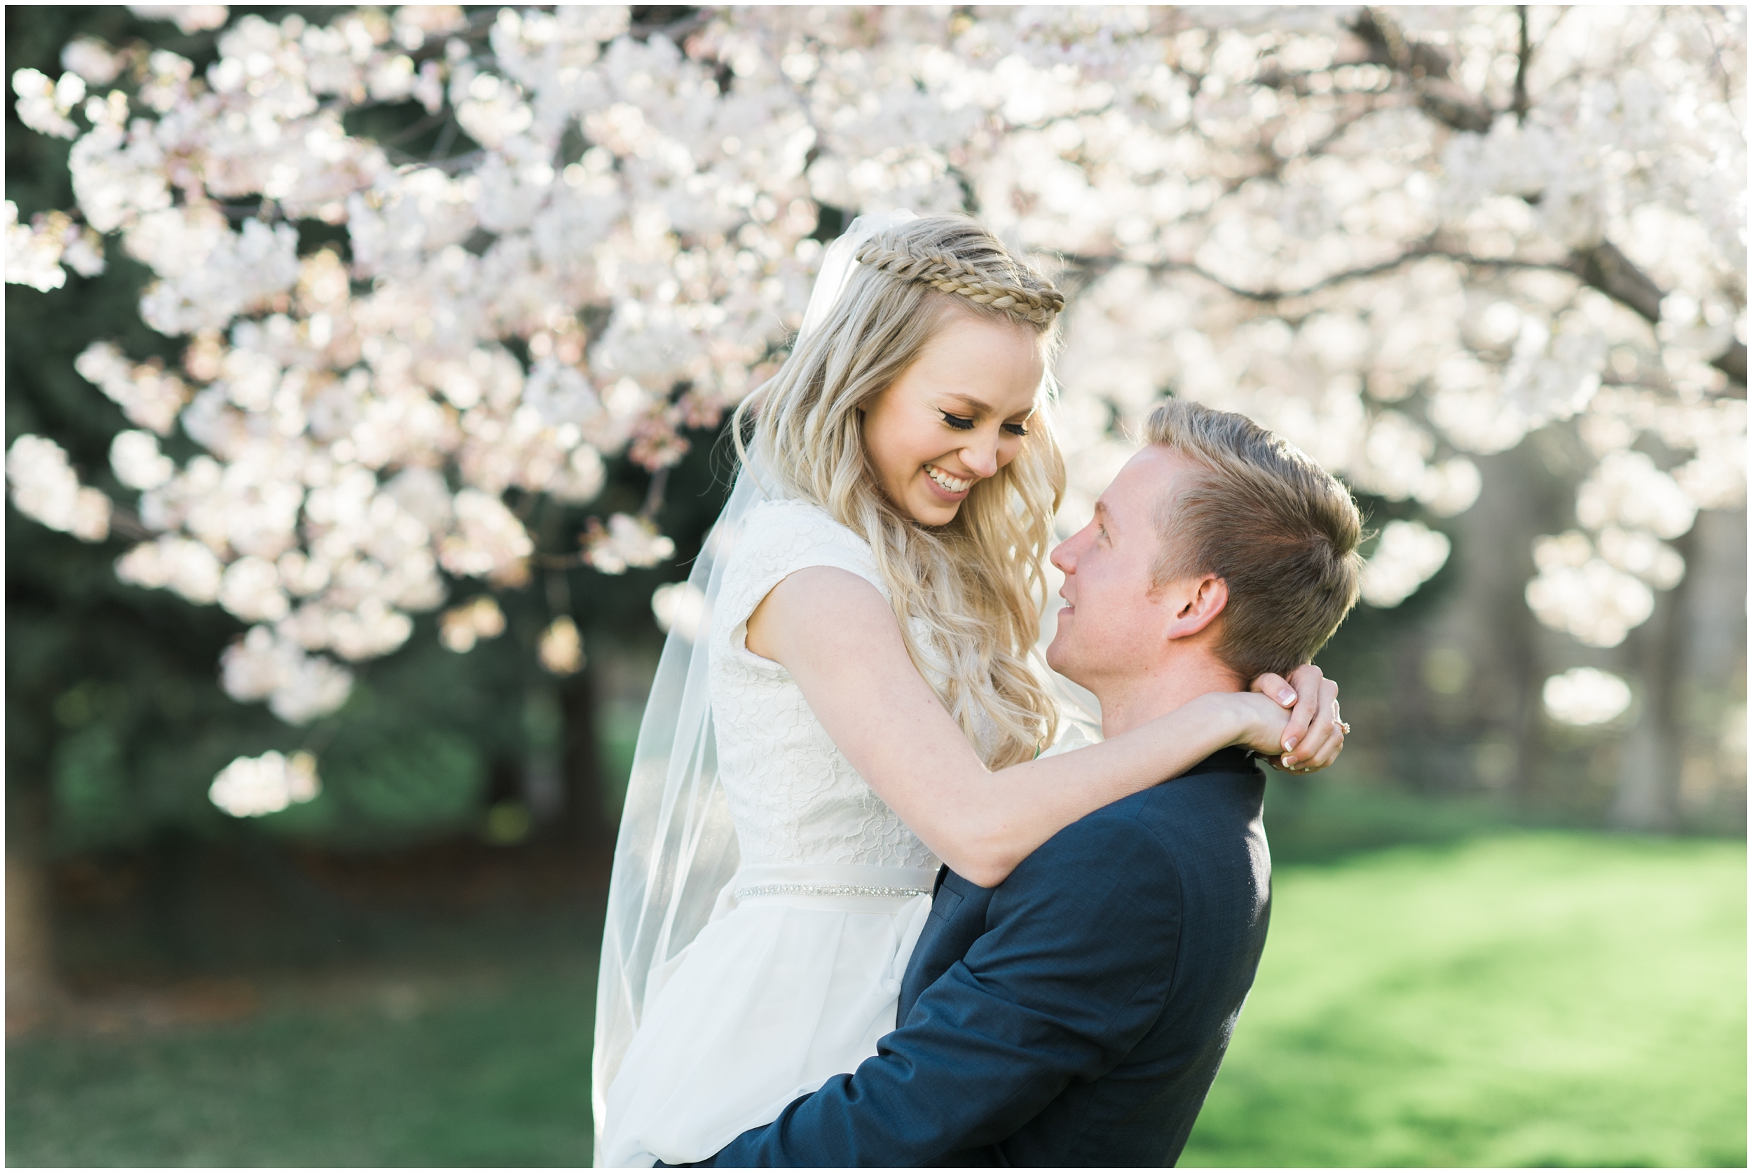
<path fill-rule="evenodd" d="M 380 982 L 233 1026 L 12 1043 L 7 1164 L 589 1166 L 594 984 L 583 965 Z"/>

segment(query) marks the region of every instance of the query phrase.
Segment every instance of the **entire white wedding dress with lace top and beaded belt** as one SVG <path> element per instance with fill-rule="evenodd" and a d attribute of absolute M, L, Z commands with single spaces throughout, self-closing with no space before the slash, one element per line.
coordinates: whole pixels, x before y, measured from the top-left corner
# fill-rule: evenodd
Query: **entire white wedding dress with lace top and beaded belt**
<path fill-rule="evenodd" d="M 937 860 L 851 769 L 790 674 L 745 643 L 767 592 L 811 565 L 888 595 L 869 544 L 818 506 L 750 509 L 710 634 L 718 781 L 741 868 L 645 991 L 608 1087 L 603 1164 L 710 1157 L 857 1068 L 895 1026 Z"/>

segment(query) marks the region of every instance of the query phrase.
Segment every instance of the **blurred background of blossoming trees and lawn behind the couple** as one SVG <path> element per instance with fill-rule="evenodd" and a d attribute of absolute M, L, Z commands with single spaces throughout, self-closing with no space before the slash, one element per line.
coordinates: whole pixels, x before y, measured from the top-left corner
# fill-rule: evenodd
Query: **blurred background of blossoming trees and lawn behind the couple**
<path fill-rule="evenodd" d="M 7 1161 L 582 1164 L 664 630 L 823 242 L 1356 492 L 1186 1164 L 1745 1164 L 1745 9 L 25 7 Z"/>

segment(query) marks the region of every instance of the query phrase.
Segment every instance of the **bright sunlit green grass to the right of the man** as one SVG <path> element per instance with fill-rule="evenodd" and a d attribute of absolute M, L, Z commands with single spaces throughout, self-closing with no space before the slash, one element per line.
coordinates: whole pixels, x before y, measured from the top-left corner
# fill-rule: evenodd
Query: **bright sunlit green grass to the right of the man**
<path fill-rule="evenodd" d="M 1181 1164 L 1743 1168 L 1745 863 L 1538 833 L 1281 870 Z"/>

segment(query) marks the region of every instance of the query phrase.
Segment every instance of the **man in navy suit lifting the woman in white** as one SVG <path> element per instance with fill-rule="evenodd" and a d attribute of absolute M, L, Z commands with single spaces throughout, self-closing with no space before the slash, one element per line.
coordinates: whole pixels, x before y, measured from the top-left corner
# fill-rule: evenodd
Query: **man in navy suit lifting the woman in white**
<path fill-rule="evenodd" d="M 1053 551 L 1048 662 L 1109 737 L 1309 662 L 1358 592 L 1361 518 L 1305 455 L 1186 401 L 1148 441 Z M 1263 791 L 1223 749 L 997 888 L 944 868 L 878 1054 L 699 1164 L 1174 1164 L 1265 945 Z"/>

